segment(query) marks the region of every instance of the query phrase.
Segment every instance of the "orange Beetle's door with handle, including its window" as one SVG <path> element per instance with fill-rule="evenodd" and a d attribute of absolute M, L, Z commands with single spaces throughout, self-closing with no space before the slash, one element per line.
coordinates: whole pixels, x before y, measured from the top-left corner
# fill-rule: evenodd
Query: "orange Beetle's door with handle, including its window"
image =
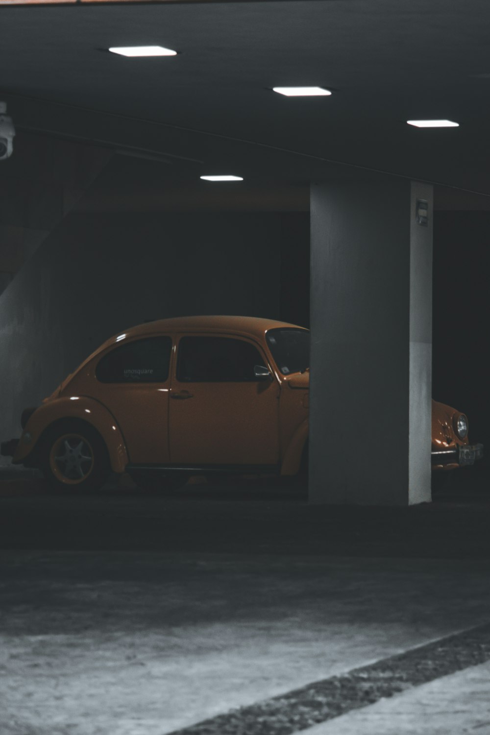
<path fill-rule="evenodd" d="M 173 464 L 276 465 L 279 394 L 252 340 L 225 334 L 182 335 L 172 377 L 169 437 Z M 272 375 L 272 371 L 271 371 Z"/>

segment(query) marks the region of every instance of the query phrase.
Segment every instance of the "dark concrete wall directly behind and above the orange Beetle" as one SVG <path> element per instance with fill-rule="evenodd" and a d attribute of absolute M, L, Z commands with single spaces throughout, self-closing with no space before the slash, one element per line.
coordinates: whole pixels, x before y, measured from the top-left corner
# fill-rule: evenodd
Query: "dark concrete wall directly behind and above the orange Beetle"
<path fill-rule="evenodd" d="M 0 298 L 0 437 L 103 340 L 144 320 L 278 318 L 276 213 L 72 213 Z"/>

